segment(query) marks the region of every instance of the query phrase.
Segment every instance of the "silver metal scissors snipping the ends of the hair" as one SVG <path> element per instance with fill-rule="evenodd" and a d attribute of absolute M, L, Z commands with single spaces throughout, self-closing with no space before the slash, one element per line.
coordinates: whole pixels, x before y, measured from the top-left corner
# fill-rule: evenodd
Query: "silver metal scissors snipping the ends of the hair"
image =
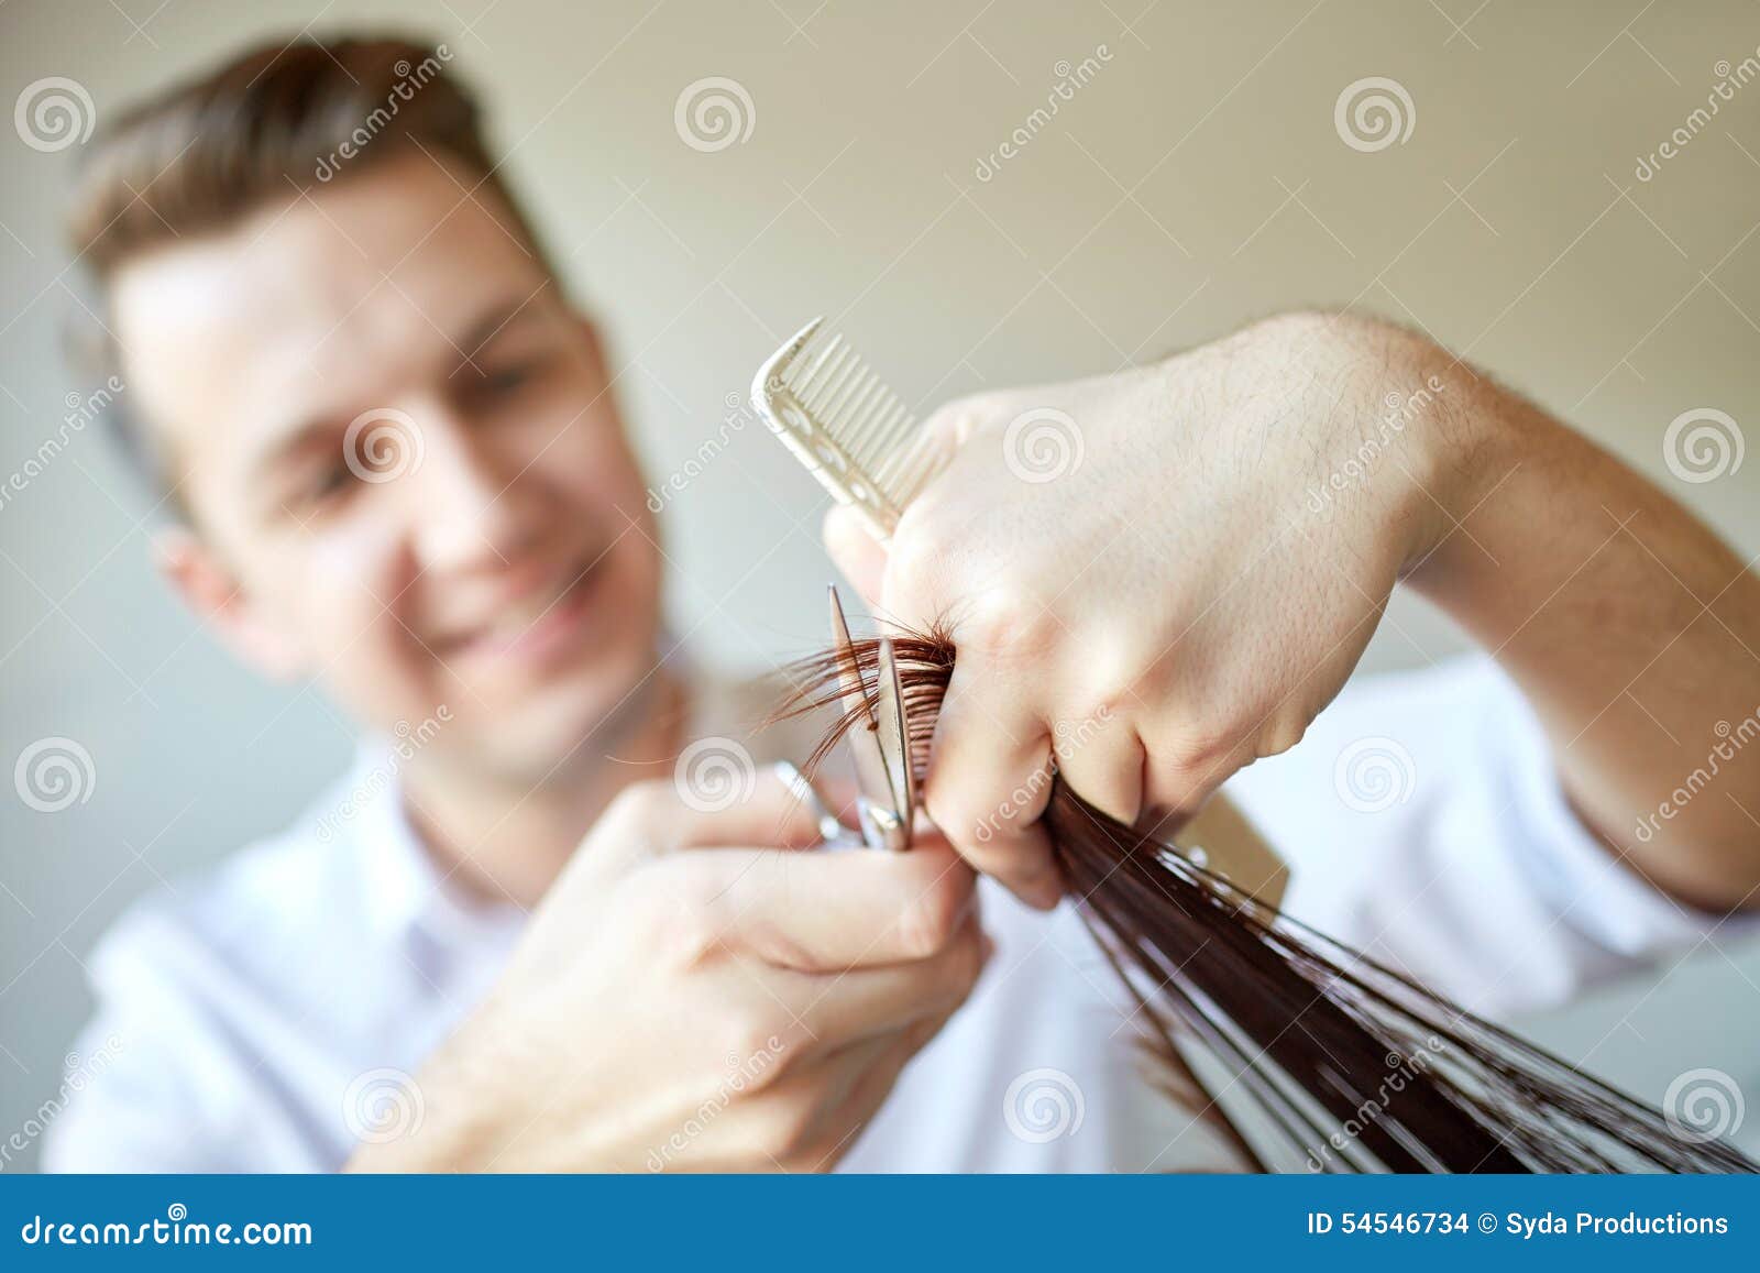
<path fill-rule="evenodd" d="M 843 618 L 838 586 L 831 585 L 831 650 L 838 659 L 840 701 L 857 713 L 845 734 L 845 747 L 855 764 L 855 813 L 861 831 L 843 826 L 792 764 L 778 766 L 794 794 L 818 817 L 827 847 L 868 847 L 903 852 L 910 849 L 912 810 L 917 784 L 910 769 L 910 732 L 905 720 L 905 690 L 898 680 L 898 655 L 892 637 L 880 639 L 878 676 L 873 701 L 862 683 L 861 664 Z"/>

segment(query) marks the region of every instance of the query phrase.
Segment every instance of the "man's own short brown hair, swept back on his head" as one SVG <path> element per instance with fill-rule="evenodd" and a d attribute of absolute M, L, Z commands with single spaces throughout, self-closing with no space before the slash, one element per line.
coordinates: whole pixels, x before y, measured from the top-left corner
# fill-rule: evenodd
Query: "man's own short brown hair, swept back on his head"
<path fill-rule="evenodd" d="M 99 308 L 130 257 L 415 148 L 498 194 L 510 229 L 542 261 L 451 60 L 445 44 L 410 39 L 271 40 L 118 116 L 86 148 L 67 210 Z M 83 349 L 100 370 L 118 370 L 120 350 L 104 333 Z M 167 489 L 155 440 L 125 412 L 113 410 L 111 424 L 134 465 Z"/>

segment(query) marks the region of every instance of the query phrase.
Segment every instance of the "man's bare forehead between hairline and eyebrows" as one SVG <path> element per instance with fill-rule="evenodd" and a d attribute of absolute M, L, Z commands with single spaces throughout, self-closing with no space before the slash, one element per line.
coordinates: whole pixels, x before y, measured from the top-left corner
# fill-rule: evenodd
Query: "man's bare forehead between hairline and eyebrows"
<path fill-rule="evenodd" d="M 472 185 L 400 157 L 125 264 L 114 331 L 144 414 L 183 451 L 220 424 L 241 440 L 382 403 L 461 361 L 484 313 L 547 278 L 498 195 Z"/>

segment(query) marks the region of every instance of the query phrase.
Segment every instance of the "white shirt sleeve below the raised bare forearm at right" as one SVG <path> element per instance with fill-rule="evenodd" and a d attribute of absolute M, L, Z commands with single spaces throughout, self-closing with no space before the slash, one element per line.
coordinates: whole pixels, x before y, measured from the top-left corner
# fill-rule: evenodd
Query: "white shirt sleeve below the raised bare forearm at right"
<path fill-rule="evenodd" d="M 1290 863 L 1292 916 L 1480 1012 L 1756 928 L 1654 889 L 1582 824 L 1489 657 L 1353 681 L 1228 791 Z"/>

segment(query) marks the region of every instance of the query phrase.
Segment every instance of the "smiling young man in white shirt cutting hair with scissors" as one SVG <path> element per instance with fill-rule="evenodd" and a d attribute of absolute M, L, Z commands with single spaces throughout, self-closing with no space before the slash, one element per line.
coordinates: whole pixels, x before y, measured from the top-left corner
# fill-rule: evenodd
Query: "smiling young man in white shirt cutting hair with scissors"
<path fill-rule="evenodd" d="M 1137 1072 L 1105 960 L 1054 905 L 1033 810 L 984 833 L 1023 766 L 1045 762 L 1051 725 L 1102 706 L 1128 727 L 1058 759 L 1123 815 L 1190 806 L 1313 724 L 1230 785 L 1297 887 L 1311 880 L 1299 912 L 1480 1007 L 1549 1002 L 1691 940 L 1714 921 L 1670 894 L 1721 910 L 1751 879 L 1751 840 L 1698 805 L 1705 820 L 1670 824 L 1670 856 L 1640 863 L 1660 889 L 1628 873 L 1572 799 L 1605 829 L 1609 789 L 1674 757 L 1646 743 L 1612 768 L 1565 766 L 1566 794 L 1489 664 L 1346 694 L 1313 720 L 1399 574 L 1429 556 L 1438 592 L 1471 592 L 1473 567 L 1410 498 L 1362 516 L 1357 495 L 1357 516 L 1272 539 L 1301 511 L 1294 463 L 1244 479 L 1221 421 L 1188 453 L 1158 456 L 1153 438 L 1183 433 L 1170 416 L 1199 408 L 1206 375 L 1230 391 L 1258 377 L 1246 398 L 1308 426 L 1329 412 L 1299 387 L 1352 380 L 1378 403 L 1371 363 L 1404 377 L 1433 357 L 1419 342 L 1410 366 L 1369 352 L 1366 331 L 1396 338 L 1348 322 L 1253 329 L 1162 380 L 956 407 L 935 428 L 970 500 L 936 482 L 891 560 L 832 525 L 850 576 L 896 613 L 973 602 L 956 613 L 928 791 L 952 845 L 810 852 L 811 820 L 755 773 L 743 799 L 702 799 L 678 762 L 725 717 L 656 653 L 655 528 L 598 336 L 451 72 L 398 93 L 429 62 L 396 42 L 248 55 L 113 129 L 76 204 L 130 438 L 181 512 L 165 576 L 241 659 L 317 678 L 401 741 L 370 745 L 283 835 L 118 924 L 93 960 L 92 1025 L 118 1060 L 56 1122 L 51 1166 L 1236 1166 L 1202 1111 Z M 387 100 L 389 127 L 345 153 Z M 1464 400 L 1471 377 L 1447 372 Z M 1001 481 L 989 442 L 1040 405 L 1093 431 L 1096 486 Z M 1248 421 L 1255 454 L 1324 458 L 1267 410 Z M 1471 458 L 1422 475 L 1478 474 Z M 1132 465 L 1146 484 L 1125 481 Z M 1471 493 L 1450 486 L 1448 504 Z M 1109 537 L 1119 509 L 1137 521 Z M 1030 556 L 1005 551 L 1023 516 L 1070 537 L 1035 530 Z M 1705 539 L 1683 532 L 1704 558 L 1690 586 L 1727 565 Z M 1253 544 L 1271 578 L 1230 560 Z M 1352 586 L 1322 586 L 1325 563 Z M 1741 595 L 1732 618 L 1753 632 Z M 1573 627 L 1623 666 L 1595 623 Z M 1753 680 L 1718 655 L 1683 678 L 1681 711 L 1718 697 L 1705 681 L 1760 701 Z M 1456 727 L 1433 729 L 1445 713 Z M 1341 801 L 1334 757 L 1364 734 L 1408 740 L 1426 799 Z M 1753 768 L 1735 776 L 1748 801 Z M 977 886 L 961 852 L 1021 901 Z"/>

